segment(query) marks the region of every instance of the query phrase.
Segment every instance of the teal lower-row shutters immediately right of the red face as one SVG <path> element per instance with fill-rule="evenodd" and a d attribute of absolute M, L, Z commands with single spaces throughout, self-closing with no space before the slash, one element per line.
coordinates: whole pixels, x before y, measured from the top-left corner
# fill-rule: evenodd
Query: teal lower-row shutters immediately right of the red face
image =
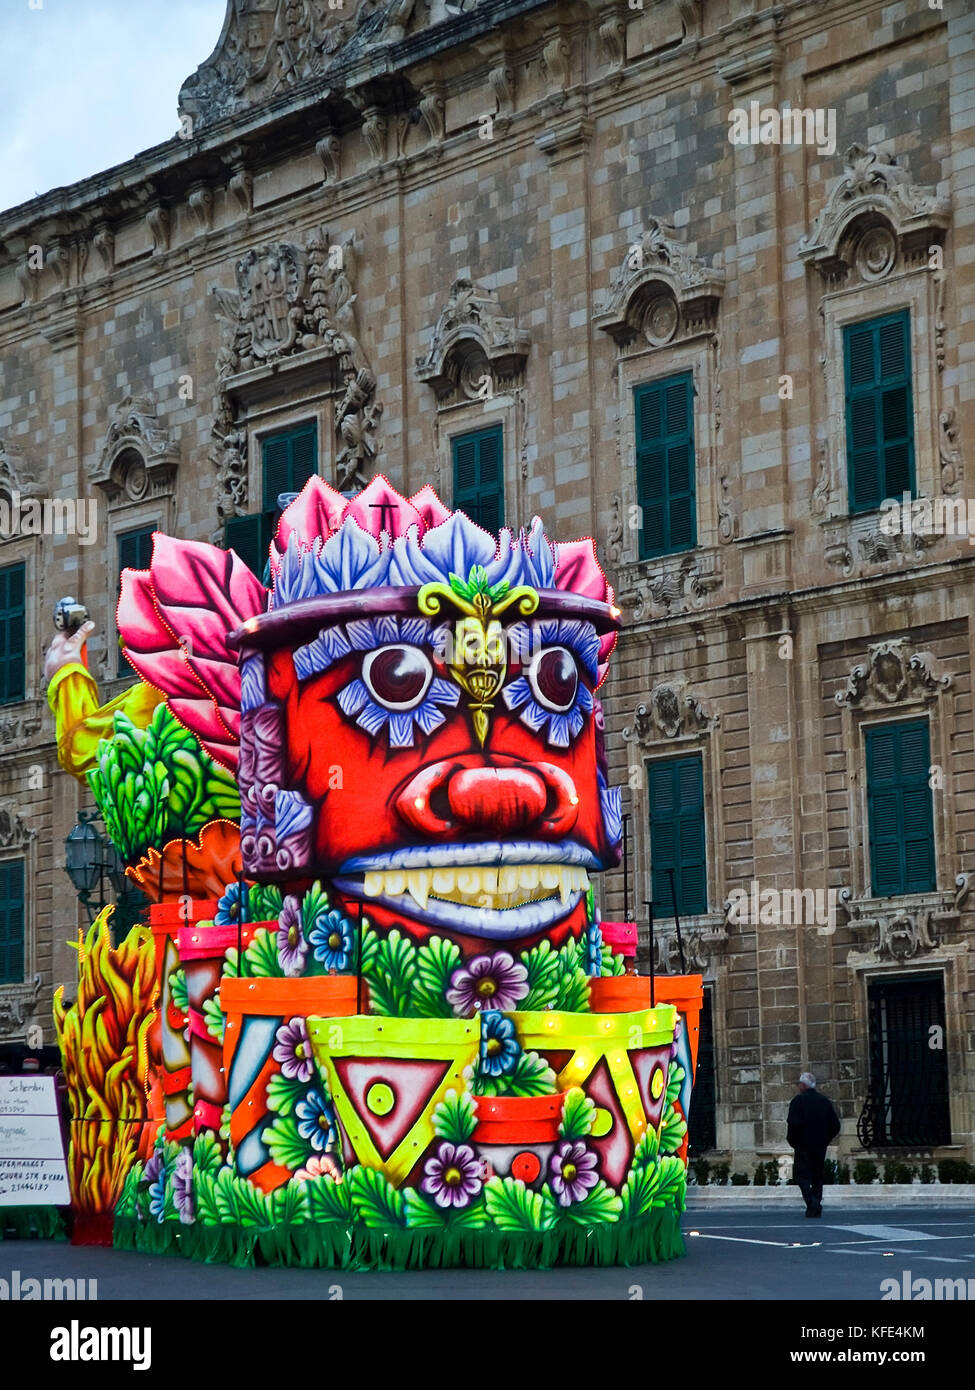
<path fill-rule="evenodd" d="M 670 874 L 677 910 L 708 910 L 701 759 L 672 758 L 647 764 L 654 917 L 672 917 Z"/>

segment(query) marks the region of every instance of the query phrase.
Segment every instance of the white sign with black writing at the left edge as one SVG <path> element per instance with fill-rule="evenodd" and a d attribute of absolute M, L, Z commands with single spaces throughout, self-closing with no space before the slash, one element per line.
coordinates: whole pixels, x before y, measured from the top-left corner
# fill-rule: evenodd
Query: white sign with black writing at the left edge
<path fill-rule="evenodd" d="M 0 1076 L 0 1207 L 71 1202 L 53 1076 Z"/>

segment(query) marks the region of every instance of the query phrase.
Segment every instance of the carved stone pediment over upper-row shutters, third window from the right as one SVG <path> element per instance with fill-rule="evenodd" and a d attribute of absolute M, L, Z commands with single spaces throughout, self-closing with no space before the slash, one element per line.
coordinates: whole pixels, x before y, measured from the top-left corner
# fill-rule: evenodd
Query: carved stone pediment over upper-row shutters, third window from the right
<path fill-rule="evenodd" d="M 487 375 L 492 393 L 510 385 L 529 356 L 531 334 L 501 313 L 492 289 L 455 279 L 441 310 L 426 356 L 416 359 L 416 375 L 440 398 L 460 392 L 483 393 Z"/>

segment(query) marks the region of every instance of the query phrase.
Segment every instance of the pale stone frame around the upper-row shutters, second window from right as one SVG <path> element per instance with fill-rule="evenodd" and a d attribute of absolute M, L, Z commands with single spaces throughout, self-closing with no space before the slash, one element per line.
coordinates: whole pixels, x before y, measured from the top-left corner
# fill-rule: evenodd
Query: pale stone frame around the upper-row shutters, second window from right
<path fill-rule="evenodd" d="M 645 566 L 651 570 L 680 570 L 688 556 L 712 550 L 720 542 L 720 481 L 715 477 L 718 457 L 716 386 L 714 332 L 702 331 L 679 343 L 645 346 L 637 353 L 619 356 L 616 371 L 616 411 L 622 459 L 620 499 L 623 535 L 619 567 Z M 666 381 L 690 373 L 694 388 L 694 498 L 697 541 L 687 550 L 640 559 L 640 528 L 629 525 L 638 516 L 637 502 L 637 421 L 634 388 Z"/>

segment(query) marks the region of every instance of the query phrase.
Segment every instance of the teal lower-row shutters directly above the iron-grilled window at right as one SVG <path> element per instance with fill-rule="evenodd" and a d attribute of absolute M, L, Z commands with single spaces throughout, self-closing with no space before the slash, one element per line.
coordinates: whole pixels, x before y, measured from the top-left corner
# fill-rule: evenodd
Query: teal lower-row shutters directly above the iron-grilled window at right
<path fill-rule="evenodd" d="M 928 721 L 867 730 L 871 881 L 876 898 L 933 892 L 935 816 Z"/>

